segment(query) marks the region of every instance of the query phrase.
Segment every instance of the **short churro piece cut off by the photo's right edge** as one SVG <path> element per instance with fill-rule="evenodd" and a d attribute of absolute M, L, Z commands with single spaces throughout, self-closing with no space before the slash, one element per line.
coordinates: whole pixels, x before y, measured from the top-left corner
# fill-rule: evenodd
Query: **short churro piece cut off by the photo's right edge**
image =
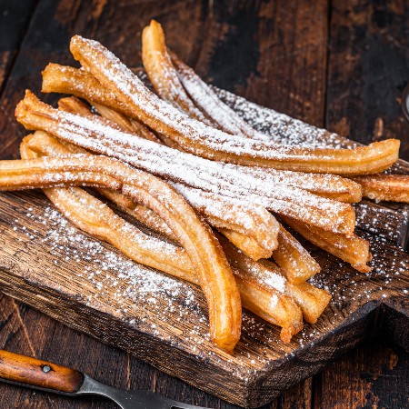
<path fill-rule="evenodd" d="M 356 176 L 354 181 L 362 186 L 364 197 L 377 201 L 409 203 L 409 176 L 407 175 Z"/>

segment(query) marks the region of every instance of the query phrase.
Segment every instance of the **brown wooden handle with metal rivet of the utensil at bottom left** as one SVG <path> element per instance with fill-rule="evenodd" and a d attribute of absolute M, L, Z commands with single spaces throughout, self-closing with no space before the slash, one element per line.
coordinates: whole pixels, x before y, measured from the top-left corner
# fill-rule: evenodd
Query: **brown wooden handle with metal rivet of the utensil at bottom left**
<path fill-rule="evenodd" d="M 75 393 L 84 381 L 84 374 L 51 362 L 0 350 L 0 378 L 27 386 Z"/>

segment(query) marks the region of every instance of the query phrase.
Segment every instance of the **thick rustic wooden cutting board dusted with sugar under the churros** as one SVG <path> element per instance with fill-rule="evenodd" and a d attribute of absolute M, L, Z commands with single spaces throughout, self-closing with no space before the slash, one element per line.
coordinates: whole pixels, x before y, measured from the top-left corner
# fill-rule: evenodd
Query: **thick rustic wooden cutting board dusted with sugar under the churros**
<path fill-rule="evenodd" d="M 294 145 L 353 144 L 217 92 L 254 126 Z M 295 136 L 300 129 L 303 136 Z M 395 171 L 409 174 L 409 164 L 401 161 Z M 403 250 L 409 206 L 363 201 L 356 211 L 358 233 L 372 244 L 373 272 L 359 274 L 308 244 L 323 267 L 313 283 L 333 300 L 291 344 L 279 340 L 277 327 L 244 312 L 234 355 L 219 351 L 209 341 L 200 289 L 80 232 L 38 191 L 0 194 L 0 288 L 206 392 L 257 407 L 376 334 L 409 349 L 409 256 Z"/>

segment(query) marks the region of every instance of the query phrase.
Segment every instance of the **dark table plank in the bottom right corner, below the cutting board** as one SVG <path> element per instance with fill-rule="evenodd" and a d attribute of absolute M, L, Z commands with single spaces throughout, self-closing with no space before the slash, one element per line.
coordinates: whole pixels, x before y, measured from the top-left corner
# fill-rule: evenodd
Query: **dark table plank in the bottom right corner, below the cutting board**
<path fill-rule="evenodd" d="M 409 354 L 397 345 L 364 344 L 324 371 L 313 407 L 408 407 L 408 366 Z"/>

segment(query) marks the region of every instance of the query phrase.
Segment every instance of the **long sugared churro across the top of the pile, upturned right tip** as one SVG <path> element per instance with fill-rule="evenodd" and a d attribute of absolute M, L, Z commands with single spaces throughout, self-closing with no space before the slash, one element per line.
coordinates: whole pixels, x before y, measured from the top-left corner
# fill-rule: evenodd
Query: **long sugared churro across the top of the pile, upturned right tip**
<path fill-rule="evenodd" d="M 400 143 L 394 139 L 355 149 L 311 149 L 229 135 L 190 118 L 161 100 L 98 42 L 75 35 L 70 49 L 85 70 L 109 87 L 141 122 L 194 155 L 239 165 L 337 175 L 382 172 L 398 158 Z"/>

